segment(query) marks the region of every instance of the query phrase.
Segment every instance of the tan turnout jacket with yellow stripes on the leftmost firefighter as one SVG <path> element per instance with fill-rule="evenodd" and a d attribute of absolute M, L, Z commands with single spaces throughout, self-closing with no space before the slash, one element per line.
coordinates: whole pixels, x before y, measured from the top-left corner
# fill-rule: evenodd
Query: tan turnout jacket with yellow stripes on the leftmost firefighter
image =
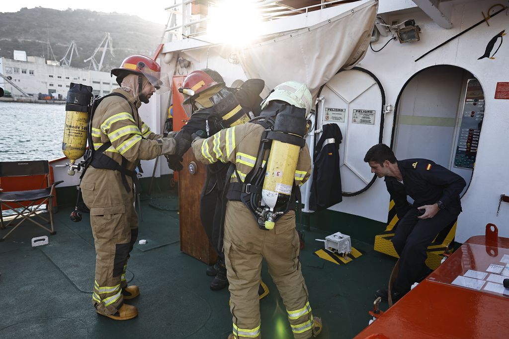
<path fill-rule="evenodd" d="M 156 139 L 162 135 L 150 131 L 142 121 L 138 114 L 142 103 L 137 98 L 120 88 L 113 92 L 125 99 L 111 96 L 99 103 L 92 119 L 92 142 L 97 150 L 103 143 L 111 141 L 104 155 L 119 165 L 124 157 L 128 161 L 126 168 L 132 171 L 140 160 L 151 160 L 161 155 L 162 148 Z M 172 141 L 175 143 L 175 140 Z"/>

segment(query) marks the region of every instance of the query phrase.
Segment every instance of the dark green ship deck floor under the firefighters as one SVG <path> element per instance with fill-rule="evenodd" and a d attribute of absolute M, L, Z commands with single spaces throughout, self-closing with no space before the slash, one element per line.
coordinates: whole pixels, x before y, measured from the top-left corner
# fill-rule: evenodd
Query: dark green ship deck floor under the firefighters
<path fill-rule="evenodd" d="M 157 204 L 178 205 L 176 197 L 162 198 Z M 67 207 L 54 215 L 57 234 L 49 236 L 48 245 L 31 247 L 33 237 L 48 233 L 26 222 L 0 242 L 0 337 L 225 339 L 232 330 L 228 289 L 210 290 L 207 265 L 180 252 L 178 213 L 149 203 L 142 201 L 138 236 L 148 243 L 135 245 L 127 273 L 130 284 L 138 285 L 141 292 L 130 302 L 138 307 L 137 318 L 119 322 L 95 313 L 89 216 L 73 223 L 72 208 Z M 0 237 L 8 231 L 0 230 Z M 314 239 L 328 234 L 316 229 L 305 232 L 302 272 L 313 315 L 323 321 L 319 337 L 352 338 L 367 325 L 373 293 L 386 285 L 395 260 L 375 252 L 373 244 L 353 239 L 363 255 L 347 265 L 335 265 L 314 255 L 323 245 Z M 260 304 L 262 336 L 291 338 L 285 307 L 265 266 L 262 279 L 270 289 Z"/>

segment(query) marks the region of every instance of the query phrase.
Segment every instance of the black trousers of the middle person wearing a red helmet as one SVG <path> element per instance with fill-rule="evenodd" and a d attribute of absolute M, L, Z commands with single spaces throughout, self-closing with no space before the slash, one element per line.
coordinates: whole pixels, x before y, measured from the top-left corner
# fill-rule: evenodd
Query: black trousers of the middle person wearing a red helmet
<path fill-rule="evenodd" d="M 207 166 L 206 187 L 204 187 L 200 199 L 200 219 L 203 228 L 221 261 L 224 261 L 222 251 L 224 215 L 228 202 L 224 193 L 224 182 L 228 168 L 229 166 L 224 165 L 221 168 Z"/>

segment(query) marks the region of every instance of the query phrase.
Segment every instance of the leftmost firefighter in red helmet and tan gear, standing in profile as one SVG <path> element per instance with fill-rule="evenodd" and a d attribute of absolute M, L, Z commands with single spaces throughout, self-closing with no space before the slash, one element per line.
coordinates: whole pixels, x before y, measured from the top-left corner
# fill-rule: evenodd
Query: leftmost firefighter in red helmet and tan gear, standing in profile
<path fill-rule="evenodd" d="M 139 295 L 127 286 L 126 267 L 138 234 L 134 209 L 136 172 L 140 160 L 172 155 L 186 142 L 163 138 L 150 131 L 138 115 L 156 89 L 167 90 L 160 66 L 144 55 L 131 55 L 111 70 L 120 88 L 100 99 L 91 116 L 89 145 L 94 151 L 80 188 L 90 208 L 96 249 L 92 302 L 98 314 L 115 320 L 137 316 L 135 306 L 124 303 Z M 95 107 L 95 106 L 94 106 Z"/>

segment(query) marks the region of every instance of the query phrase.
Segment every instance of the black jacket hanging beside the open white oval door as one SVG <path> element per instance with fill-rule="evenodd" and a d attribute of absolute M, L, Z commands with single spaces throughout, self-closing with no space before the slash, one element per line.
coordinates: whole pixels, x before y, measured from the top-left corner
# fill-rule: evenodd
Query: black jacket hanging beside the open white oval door
<path fill-rule="evenodd" d="M 313 181 L 309 209 L 319 211 L 343 200 L 340 174 L 340 143 L 343 140 L 336 124 L 323 126 L 323 133 L 313 155 Z"/>

